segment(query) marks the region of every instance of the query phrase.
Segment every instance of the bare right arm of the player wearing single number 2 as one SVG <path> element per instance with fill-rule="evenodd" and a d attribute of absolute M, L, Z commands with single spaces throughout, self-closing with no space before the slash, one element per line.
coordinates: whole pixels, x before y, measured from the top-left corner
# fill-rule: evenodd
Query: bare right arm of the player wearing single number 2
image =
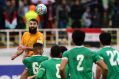
<path fill-rule="evenodd" d="M 97 64 L 102 69 L 102 79 L 106 79 L 107 73 L 108 73 L 108 69 L 107 69 L 106 64 L 104 63 L 103 60 L 100 60 L 99 62 L 97 62 Z"/>

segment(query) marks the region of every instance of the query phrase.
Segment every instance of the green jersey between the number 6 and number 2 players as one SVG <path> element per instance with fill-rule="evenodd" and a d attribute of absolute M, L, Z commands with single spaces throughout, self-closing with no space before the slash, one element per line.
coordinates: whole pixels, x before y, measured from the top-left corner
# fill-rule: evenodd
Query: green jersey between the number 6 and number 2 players
<path fill-rule="evenodd" d="M 61 79 L 59 67 L 61 58 L 51 58 L 41 63 L 41 68 L 36 76 L 36 79 Z M 66 74 L 68 77 L 68 67 L 66 67 Z"/>

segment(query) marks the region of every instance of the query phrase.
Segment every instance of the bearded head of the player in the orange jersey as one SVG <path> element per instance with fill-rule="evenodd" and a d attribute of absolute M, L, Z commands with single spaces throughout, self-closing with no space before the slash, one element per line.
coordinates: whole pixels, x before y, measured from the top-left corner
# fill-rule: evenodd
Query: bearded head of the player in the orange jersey
<path fill-rule="evenodd" d="M 31 19 L 29 21 L 29 32 L 31 34 L 36 34 L 38 28 L 38 21 L 36 19 Z"/>

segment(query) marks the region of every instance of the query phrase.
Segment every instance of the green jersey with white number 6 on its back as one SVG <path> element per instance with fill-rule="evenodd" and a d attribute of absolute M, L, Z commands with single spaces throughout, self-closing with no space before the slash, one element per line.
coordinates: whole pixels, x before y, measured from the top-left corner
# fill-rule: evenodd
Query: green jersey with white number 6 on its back
<path fill-rule="evenodd" d="M 41 55 L 33 55 L 31 57 L 27 57 L 23 60 L 23 64 L 28 68 L 29 75 L 37 74 L 39 71 L 40 63 L 48 60 L 48 57 Z"/>

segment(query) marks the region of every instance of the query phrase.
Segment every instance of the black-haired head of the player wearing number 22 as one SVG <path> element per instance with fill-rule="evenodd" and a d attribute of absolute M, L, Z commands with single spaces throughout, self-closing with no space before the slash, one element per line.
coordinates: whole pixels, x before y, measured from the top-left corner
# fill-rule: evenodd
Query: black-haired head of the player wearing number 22
<path fill-rule="evenodd" d="M 102 32 L 99 35 L 100 43 L 102 45 L 110 45 L 111 44 L 111 34 L 107 32 Z"/>

